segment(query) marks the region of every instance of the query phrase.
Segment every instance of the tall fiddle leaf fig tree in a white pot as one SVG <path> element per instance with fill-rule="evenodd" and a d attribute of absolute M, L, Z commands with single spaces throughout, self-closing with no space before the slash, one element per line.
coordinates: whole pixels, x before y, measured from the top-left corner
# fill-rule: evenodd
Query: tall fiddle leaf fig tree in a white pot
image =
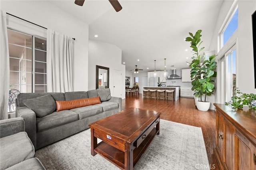
<path fill-rule="evenodd" d="M 189 33 L 190 37 L 186 38 L 187 42 L 190 42 L 193 56 L 190 63 L 190 77 L 192 80 L 192 90 L 195 91 L 194 96 L 198 98 L 196 101 L 196 107 L 201 111 L 208 111 L 210 108 L 210 102 L 206 101 L 206 97 L 214 93 L 214 77 L 216 77 L 217 63 L 215 61 L 216 55 L 211 55 L 209 58 L 205 55 L 200 55 L 200 52 L 204 47 L 200 47 L 201 32 L 198 30 L 195 35 Z"/>

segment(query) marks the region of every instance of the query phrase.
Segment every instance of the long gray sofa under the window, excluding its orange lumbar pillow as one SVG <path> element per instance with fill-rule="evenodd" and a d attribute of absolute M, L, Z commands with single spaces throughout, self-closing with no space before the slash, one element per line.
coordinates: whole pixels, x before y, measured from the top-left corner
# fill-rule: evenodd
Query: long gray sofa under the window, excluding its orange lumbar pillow
<path fill-rule="evenodd" d="M 50 94 L 50 95 L 49 95 Z M 100 97 L 100 104 L 56 112 L 54 101 L 73 101 Z M 53 99 L 49 99 L 49 97 Z M 94 121 L 120 112 L 122 99 L 111 97 L 110 89 L 66 93 L 20 93 L 16 99 L 16 117 L 25 121 L 25 131 L 37 150 L 85 130 Z"/>

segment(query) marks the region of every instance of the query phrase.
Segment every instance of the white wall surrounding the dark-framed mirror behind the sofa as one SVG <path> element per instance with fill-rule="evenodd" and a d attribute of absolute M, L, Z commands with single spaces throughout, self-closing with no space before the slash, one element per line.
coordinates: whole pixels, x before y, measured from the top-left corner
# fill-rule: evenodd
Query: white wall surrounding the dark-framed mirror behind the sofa
<path fill-rule="evenodd" d="M 89 40 L 88 90 L 96 88 L 96 65 L 109 68 L 109 87 L 113 91 L 113 70 L 122 72 L 122 99 L 125 97 L 125 65 L 122 65 L 122 50 L 116 45 Z"/>

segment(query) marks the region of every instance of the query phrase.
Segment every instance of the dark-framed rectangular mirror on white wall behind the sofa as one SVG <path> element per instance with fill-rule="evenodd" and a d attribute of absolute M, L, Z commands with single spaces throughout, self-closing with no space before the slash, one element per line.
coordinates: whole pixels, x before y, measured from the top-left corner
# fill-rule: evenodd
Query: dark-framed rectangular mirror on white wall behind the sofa
<path fill-rule="evenodd" d="M 109 68 L 96 65 L 96 89 L 109 88 Z"/>

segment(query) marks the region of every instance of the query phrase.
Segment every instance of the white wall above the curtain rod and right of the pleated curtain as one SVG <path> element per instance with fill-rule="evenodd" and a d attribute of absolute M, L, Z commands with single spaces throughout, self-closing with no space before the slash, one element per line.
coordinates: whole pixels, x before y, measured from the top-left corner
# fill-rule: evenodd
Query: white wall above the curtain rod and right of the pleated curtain
<path fill-rule="evenodd" d="M 76 38 L 74 41 L 74 91 L 88 90 L 88 24 L 47 1 L 1 0 L 0 9 Z"/>

